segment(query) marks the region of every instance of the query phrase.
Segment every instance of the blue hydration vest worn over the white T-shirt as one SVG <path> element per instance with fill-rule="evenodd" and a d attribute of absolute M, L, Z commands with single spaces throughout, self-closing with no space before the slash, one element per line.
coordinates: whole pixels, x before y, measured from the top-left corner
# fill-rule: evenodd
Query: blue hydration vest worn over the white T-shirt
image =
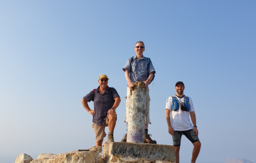
<path fill-rule="evenodd" d="M 189 104 L 189 98 L 184 96 L 184 102 L 179 102 L 177 97 L 175 95 L 172 96 L 172 110 L 173 111 L 178 111 L 182 109 L 182 111 L 190 111 L 190 104 Z"/>

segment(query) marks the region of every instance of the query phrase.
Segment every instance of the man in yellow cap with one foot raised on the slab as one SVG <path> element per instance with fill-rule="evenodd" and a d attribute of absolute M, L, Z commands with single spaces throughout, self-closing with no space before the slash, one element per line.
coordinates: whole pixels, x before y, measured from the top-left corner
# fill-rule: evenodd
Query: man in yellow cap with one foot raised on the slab
<path fill-rule="evenodd" d="M 96 136 L 96 146 L 88 150 L 99 151 L 104 137 L 106 137 L 105 127 L 108 126 L 108 143 L 114 142 L 114 128 L 116 125 L 116 108 L 120 104 L 120 97 L 115 88 L 108 86 L 108 76 L 100 75 L 99 87 L 93 89 L 81 100 L 84 109 L 92 114 L 92 127 Z M 88 102 L 93 101 L 94 109 L 90 109 Z"/>

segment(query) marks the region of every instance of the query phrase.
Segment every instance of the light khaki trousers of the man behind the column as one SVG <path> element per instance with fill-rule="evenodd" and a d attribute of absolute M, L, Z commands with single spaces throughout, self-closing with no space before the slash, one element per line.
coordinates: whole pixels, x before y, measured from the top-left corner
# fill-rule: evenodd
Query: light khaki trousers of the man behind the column
<path fill-rule="evenodd" d="M 130 88 L 127 86 L 127 98 L 126 98 L 126 115 L 125 115 L 125 122 L 128 121 L 129 117 L 129 104 L 130 104 Z M 145 124 L 150 123 L 150 118 L 149 118 L 149 103 L 150 103 L 150 97 L 149 97 L 149 89 L 146 91 L 146 112 L 145 112 Z"/>

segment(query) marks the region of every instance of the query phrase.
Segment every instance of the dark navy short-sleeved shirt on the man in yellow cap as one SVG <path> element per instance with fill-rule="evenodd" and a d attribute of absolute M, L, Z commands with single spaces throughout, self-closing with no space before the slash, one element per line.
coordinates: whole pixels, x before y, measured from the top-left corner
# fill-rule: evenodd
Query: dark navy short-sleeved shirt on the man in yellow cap
<path fill-rule="evenodd" d="M 119 97 L 116 89 L 109 86 L 103 94 L 99 93 L 98 87 L 95 93 L 92 90 L 84 97 L 84 100 L 88 102 L 93 101 L 95 111 L 92 119 L 93 123 L 97 125 L 104 124 L 104 119 L 108 116 L 109 109 L 113 107 L 116 97 Z"/>

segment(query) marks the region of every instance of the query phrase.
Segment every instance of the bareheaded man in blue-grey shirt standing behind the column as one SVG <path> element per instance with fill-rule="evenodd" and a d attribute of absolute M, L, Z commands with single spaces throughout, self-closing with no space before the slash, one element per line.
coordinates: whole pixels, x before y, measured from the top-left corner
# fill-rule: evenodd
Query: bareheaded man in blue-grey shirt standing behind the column
<path fill-rule="evenodd" d="M 125 122 L 127 122 L 128 113 L 129 113 L 129 96 L 130 88 L 136 81 L 144 82 L 146 91 L 146 112 L 145 112 L 145 139 L 144 143 L 152 143 L 156 144 L 156 141 L 152 140 L 150 134 L 148 134 L 148 123 L 150 123 L 149 118 L 149 89 L 148 84 L 154 79 L 154 74 L 156 71 L 150 58 L 146 58 L 143 56 L 143 52 L 145 51 L 145 45 L 143 42 L 136 42 L 134 51 L 136 52 L 136 56 L 132 56 L 128 59 L 127 63 L 125 64 L 123 70 L 125 72 L 125 79 L 128 82 L 127 86 L 127 98 L 126 98 L 126 116 Z M 124 139 L 121 142 L 127 141 L 127 134 L 125 134 Z"/>

